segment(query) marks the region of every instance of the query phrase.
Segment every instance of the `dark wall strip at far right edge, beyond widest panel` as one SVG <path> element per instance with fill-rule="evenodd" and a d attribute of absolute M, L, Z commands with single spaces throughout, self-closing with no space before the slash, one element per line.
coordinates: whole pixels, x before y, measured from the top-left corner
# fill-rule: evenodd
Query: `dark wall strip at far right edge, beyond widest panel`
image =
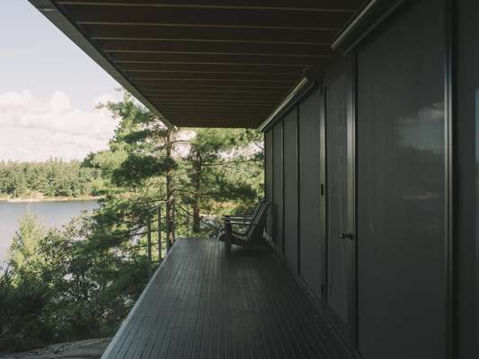
<path fill-rule="evenodd" d="M 479 2 L 459 0 L 457 6 L 457 357 L 473 359 L 479 357 Z"/>

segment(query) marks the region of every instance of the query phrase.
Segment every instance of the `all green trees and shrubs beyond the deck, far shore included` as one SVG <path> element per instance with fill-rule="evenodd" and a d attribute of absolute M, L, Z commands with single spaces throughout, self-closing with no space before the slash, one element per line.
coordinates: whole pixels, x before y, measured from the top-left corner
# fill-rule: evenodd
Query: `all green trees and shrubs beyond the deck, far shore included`
<path fill-rule="evenodd" d="M 102 195 L 92 216 L 62 230 L 22 218 L 0 276 L 0 350 L 111 335 L 146 285 L 146 221 L 158 206 L 177 205 L 175 231 L 188 236 L 210 232 L 201 216 L 248 211 L 262 197 L 258 131 L 199 128 L 183 139 L 129 94 L 102 106 L 120 120 L 108 151 L 82 163 L 0 163 L 9 196 Z M 163 232 L 173 219 L 164 216 Z"/>

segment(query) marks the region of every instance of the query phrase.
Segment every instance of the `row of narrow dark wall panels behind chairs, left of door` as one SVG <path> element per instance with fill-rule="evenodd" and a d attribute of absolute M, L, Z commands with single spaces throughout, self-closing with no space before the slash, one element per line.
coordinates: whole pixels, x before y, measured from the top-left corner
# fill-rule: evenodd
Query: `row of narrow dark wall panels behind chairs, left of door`
<path fill-rule="evenodd" d="M 306 94 L 265 133 L 266 177 L 270 182 L 266 192 L 273 214 L 268 233 L 288 258 L 290 267 L 318 298 L 324 273 L 319 138 L 318 90 Z"/>

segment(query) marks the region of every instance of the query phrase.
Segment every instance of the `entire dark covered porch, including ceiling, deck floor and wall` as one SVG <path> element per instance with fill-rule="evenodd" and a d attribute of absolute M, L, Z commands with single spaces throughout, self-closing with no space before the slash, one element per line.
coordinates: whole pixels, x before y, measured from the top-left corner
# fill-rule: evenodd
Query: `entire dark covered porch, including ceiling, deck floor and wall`
<path fill-rule="evenodd" d="M 477 2 L 30 1 L 168 127 L 264 132 L 278 250 L 178 241 L 104 357 L 477 357 Z"/>

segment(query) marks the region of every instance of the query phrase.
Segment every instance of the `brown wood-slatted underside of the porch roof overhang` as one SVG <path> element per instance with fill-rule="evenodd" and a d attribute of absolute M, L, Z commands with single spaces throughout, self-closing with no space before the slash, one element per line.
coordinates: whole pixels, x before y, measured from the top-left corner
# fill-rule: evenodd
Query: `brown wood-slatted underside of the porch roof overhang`
<path fill-rule="evenodd" d="M 165 124 L 250 128 L 315 79 L 365 3 L 29 1 Z"/>

